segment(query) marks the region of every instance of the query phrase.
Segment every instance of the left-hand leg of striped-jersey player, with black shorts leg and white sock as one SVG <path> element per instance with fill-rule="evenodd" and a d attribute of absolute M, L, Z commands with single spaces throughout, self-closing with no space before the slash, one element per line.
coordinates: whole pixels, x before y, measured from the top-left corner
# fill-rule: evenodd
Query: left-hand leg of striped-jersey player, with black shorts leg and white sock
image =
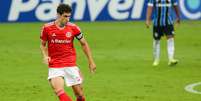
<path fill-rule="evenodd" d="M 162 31 L 159 26 L 154 26 L 153 28 L 153 66 L 157 66 L 160 60 L 160 39 L 162 36 Z"/>

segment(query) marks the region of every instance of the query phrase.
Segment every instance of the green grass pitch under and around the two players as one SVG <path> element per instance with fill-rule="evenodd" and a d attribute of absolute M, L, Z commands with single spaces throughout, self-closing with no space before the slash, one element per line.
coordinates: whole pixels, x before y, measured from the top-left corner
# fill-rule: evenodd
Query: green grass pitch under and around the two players
<path fill-rule="evenodd" d="M 201 22 L 176 26 L 176 58 L 167 66 L 166 39 L 161 62 L 152 67 L 152 29 L 144 22 L 76 22 L 92 49 L 97 72 L 91 75 L 78 41 L 77 63 L 87 101 L 200 101 L 184 90 L 201 82 Z M 39 49 L 43 23 L 0 24 L 0 101 L 58 101 L 47 81 Z M 195 87 L 201 92 L 201 85 Z M 71 88 L 65 88 L 73 97 Z M 73 97 L 75 100 L 75 98 Z"/>

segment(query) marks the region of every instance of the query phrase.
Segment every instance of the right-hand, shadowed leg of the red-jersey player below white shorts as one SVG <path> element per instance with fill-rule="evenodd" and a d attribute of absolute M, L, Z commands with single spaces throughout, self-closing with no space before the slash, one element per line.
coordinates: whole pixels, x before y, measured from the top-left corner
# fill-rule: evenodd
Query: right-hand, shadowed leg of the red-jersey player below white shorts
<path fill-rule="evenodd" d="M 84 92 L 81 84 L 72 86 L 74 94 L 76 96 L 76 101 L 85 101 Z"/>

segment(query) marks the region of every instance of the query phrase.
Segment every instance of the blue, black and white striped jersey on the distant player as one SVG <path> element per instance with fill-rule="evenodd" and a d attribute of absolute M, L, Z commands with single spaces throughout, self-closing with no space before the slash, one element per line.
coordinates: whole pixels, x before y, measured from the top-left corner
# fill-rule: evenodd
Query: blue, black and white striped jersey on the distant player
<path fill-rule="evenodd" d="M 178 5 L 177 0 L 149 0 L 148 6 L 153 7 L 154 26 L 166 26 L 173 24 L 171 16 L 172 6 Z"/>

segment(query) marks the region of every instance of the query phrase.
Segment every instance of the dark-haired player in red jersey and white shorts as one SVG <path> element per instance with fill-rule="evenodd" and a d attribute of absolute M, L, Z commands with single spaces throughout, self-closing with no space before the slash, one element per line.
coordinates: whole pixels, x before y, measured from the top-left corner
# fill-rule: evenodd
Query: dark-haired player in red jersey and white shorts
<path fill-rule="evenodd" d="M 64 91 L 65 84 L 72 87 L 76 101 L 85 101 L 81 85 L 83 78 L 76 65 L 74 38 L 79 40 L 92 73 L 95 72 L 96 64 L 80 28 L 69 22 L 71 11 L 72 8 L 67 4 L 57 7 L 57 19 L 43 26 L 40 48 L 43 62 L 49 66 L 48 80 L 60 101 L 72 101 Z"/>

